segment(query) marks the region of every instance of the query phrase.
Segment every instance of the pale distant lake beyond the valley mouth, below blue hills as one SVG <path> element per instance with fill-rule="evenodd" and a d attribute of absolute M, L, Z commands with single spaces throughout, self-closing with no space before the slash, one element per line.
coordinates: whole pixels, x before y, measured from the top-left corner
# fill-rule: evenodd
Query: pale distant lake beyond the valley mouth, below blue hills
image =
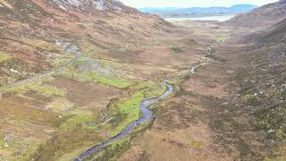
<path fill-rule="evenodd" d="M 227 21 L 234 17 L 234 14 L 227 14 L 227 15 L 212 15 L 212 16 L 184 16 L 184 17 L 168 17 L 164 18 L 166 21 L 186 21 L 186 20 L 192 20 L 192 21 Z"/>

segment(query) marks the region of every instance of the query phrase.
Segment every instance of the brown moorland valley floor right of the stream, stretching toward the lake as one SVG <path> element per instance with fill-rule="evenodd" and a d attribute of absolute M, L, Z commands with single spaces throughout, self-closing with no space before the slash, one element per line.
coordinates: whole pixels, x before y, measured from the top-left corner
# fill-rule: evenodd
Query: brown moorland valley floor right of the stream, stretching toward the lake
<path fill-rule="evenodd" d="M 178 23 L 193 31 L 191 38 L 211 46 L 212 55 L 158 106 L 154 123 L 134 137 L 120 160 L 285 159 L 285 145 L 257 126 L 259 111 L 246 100 L 248 90 L 241 85 L 249 79 L 248 72 L 255 73 L 250 62 L 259 60 L 248 56 L 257 49 L 255 44 L 237 41 L 247 29 L 215 27 L 212 22 Z"/>

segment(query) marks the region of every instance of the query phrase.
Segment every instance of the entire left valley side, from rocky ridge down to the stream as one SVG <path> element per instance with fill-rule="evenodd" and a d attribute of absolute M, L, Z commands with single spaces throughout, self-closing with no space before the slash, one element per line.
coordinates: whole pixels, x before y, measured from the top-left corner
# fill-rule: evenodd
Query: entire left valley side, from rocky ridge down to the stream
<path fill-rule="evenodd" d="M 142 52 L 174 29 L 115 0 L 0 0 L 0 160 L 72 160 L 138 119 L 186 61 Z"/>

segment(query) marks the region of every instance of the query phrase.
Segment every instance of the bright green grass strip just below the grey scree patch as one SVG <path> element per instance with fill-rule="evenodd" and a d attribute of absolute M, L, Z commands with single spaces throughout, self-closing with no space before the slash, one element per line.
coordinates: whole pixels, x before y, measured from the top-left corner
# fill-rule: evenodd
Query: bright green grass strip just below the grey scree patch
<path fill-rule="evenodd" d="M 88 76 L 97 81 L 100 84 L 104 84 L 106 86 L 112 86 L 119 89 L 125 89 L 134 84 L 132 81 L 122 78 L 114 78 L 114 77 L 105 77 L 101 74 L 87 73 Z"/>

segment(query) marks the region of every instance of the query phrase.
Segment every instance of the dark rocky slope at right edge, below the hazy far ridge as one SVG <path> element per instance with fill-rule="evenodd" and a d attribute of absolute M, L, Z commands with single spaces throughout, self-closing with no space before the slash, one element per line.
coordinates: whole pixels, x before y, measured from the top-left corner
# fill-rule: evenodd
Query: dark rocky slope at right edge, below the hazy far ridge
<path fill-rule="evenodd" d="M 271 160 L 285 160 L 286 21 L 244 37 L 251 44 L 240 55 L 240 95 Z"/>

